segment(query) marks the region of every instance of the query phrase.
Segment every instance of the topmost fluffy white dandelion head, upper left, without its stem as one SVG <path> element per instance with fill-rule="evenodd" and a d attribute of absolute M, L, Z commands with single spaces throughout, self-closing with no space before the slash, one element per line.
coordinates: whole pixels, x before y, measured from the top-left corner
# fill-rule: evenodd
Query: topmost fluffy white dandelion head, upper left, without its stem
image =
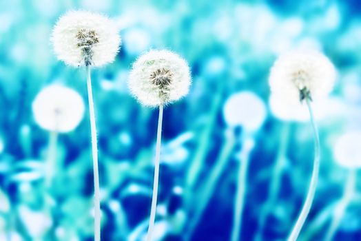
<path fill-rule="evenodd" d="M 121 44 L 113 21 L 85 11 L 65 13 L 56 23 L 51 40 L 58 59 L 76 67 L 111 63 Z"/>

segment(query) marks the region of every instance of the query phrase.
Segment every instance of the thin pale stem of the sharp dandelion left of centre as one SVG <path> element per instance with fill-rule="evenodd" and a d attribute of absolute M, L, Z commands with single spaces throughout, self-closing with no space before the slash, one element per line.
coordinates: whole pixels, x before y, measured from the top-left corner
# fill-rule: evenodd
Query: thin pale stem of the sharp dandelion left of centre
<path fill-rule="evenodd" d="M 158 196 L 159 163 L 161 159 L 162 121 L 163 121 L 163 105 L 159 105 L 158 129 L 156 132 L 156 160 L 154 163 L 152 207 L 150 209 L 147 241 L 152 240 L 154 220 L 156 219 L 156 200 Z"/>

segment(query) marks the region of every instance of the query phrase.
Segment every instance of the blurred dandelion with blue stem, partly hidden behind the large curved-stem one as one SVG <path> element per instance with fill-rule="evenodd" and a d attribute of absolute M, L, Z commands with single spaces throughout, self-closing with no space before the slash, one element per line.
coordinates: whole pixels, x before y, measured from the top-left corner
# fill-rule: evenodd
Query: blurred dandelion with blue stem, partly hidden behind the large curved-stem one
<path fill-rule="evenodd" d="M 342 105 L 340 101 L 336 98 L 329 97 L 318 100 L 317 103 L 314 103 L 313 109 L 315 110 L 315 118 L 316 120 L 324 120 L 326 118 L 331 119 L 332 117 L 340 116 L 340 109 L 346 109 Z M 287 171 L 287 167 L 289 167 L 289 159 L 287 157 L 287 149 L 289 146 L 289 136 L 291 134 L 291 125 L 293 122 L 305 122 L 309 121 L 309 110 L 307 105 L 300 105 L 300 103 L 293 103 L 289 101 L 285 101 L 282 96 L 278 96 L 277 94 L 271 94 L 269 96 L 269 109 L 271 114 L 278 118 L 280 121 L 285 121 L 285 124 L 282 125 L 280 129 L 280 144 L 278 145 L 278 152 L 276 155 L 276 160 L 274 161 L 274 165 L 272 167 L 271 176 L 269 178 L 269 192 L 267 195 L 267 200 L 262 205 L 262 209 L 260 211 L 258 231 L 256 232 L 256 241 L 262 240 L 263 230 L 265 229 L 265 224 L 269 214 L 274 210 L 274 205 L 277 202 L 280 191 L 282 190 L 282 174 Z M 333 208 L 331 208 L 333 209 Z M 320 217 L 324 216 L 321 212 Z M 315 221 L 316 222 L 316 221 Z M 308 227 L 318 227 L 317 224 L 313 225 L 309 224 Z M 302 238 L 305 240 L 309 240 L 308 235 L 313 235 L 313 232 L 305 231 L 305 235 Z"/>

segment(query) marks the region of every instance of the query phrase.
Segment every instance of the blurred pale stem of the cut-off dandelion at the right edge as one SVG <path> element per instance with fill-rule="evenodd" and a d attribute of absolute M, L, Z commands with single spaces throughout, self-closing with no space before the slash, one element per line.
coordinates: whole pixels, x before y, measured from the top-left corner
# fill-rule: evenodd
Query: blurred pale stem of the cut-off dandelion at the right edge
<path fill-rule="evenodd" d="M 355 190 L 355 182 L 356 182 L 356 172 L 355 170 L 351 170 L 349 175 L 347 176 L 347 182 L 344 186 L 344 194 L 336 206 L 336 209 L 333 211 L 333 217 L 331 220 L 331 224 L 329 229 L 327 230 L 326 239 L 325 240 L 332 240 L 333 235 L 335 235 L 338 226 L 344 216 L 344 211 L 347 209 L 349 202 L 353 196 L 353 192 Z"/>

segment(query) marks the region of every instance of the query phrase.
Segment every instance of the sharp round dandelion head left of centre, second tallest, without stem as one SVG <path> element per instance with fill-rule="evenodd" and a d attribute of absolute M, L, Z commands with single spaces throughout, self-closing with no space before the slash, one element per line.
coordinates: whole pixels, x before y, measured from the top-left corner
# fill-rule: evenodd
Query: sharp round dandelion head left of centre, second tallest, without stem
<path fill-rule="evenodd" d="M 141 104 L 156 107 L 185 96 L 190 83 L 184 59 L 167 50 L 151 50 L 133 64 L 128 84 Z"/>

